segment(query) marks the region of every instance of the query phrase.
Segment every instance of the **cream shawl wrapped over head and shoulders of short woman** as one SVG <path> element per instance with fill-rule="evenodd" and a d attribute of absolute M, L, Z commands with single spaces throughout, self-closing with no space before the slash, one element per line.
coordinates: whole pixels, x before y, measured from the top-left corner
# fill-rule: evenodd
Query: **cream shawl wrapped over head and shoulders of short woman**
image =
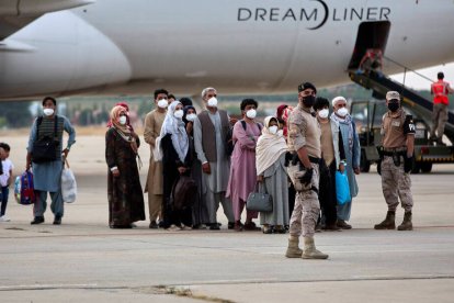
<path fill-rule="evenodd" d="M 277 134 L 270 132 L 270 122 L 274 116 L 266 116 L 264 119 L 264 126 L 262 135 L 257 141 L 256 147 L 256 167 L 257 175 L 262 175 L 269 167 L 271 167 L 282 154 L 287 152 L 285 138 Z M 276 121 L 277 119 L 274 117 Z"/>

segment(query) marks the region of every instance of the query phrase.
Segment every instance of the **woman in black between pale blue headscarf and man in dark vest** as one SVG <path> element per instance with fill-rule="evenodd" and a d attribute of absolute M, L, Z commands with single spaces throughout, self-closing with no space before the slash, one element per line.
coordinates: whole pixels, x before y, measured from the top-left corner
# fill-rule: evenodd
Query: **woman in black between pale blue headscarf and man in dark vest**
<path fill-rule="evenodd" d="M 192 161 L 191 178 L 197 183 L 197 198 L 192 207 L 192 228 L 205 228 L 206 223 L 209 222 L 208 207 L 203 199 L 203 182 L 202 182 L 202 162 L 197 159 L 194 148 L 194 120 L 197 117 L 197 112 L 193 105 L 186 105 L 183 109 L 183 122 L 186 127 L 186 133 L 190 141 L 190 157 Z"/>

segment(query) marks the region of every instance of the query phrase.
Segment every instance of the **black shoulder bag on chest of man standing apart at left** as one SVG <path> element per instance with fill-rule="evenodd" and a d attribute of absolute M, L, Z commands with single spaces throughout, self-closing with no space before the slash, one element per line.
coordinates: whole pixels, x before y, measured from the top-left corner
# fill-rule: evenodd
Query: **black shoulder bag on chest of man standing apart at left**
<path fill-rule="evenodd" d="M 44 164 L 55 161 L 57 159 L 57 147 L 58 147 L 58 139 L 57 139 L 57 121 L 58 116 L 55 116 L 55 124 L 54 124 L 54 137 L 45 136 L 42 139 L 39 138 L 39 125 L 43 122 L 43 117 L 39 116 L 37 120 L 36 125 L 36 141 L 33 143 L 32 148 L 32 161 L 35 164 Z"/>

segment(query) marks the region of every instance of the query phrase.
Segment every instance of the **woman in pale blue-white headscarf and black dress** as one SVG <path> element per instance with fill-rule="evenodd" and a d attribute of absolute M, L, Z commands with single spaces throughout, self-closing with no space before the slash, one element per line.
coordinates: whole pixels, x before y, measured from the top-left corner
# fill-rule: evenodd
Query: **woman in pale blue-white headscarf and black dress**
<path fill-rule="evenodd" d="M 162 176 L 163 176 L 163 217 L 164 228 L 178 229 L 192 225 L 192 210 L 179 211 L 171 204 L 173 184 L 181 175 L 190 173 L 190 141 L 183 122 L 183 104 L 170 103 L 161 128 Z"/>

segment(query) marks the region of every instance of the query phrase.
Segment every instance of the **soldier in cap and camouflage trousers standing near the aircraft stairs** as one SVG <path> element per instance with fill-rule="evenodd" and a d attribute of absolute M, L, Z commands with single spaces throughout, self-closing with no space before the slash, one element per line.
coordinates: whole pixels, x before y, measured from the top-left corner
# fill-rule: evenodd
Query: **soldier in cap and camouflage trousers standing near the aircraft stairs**
<path fill-rule="evenodd" d="M 388 212 L 386 218 L 374 226 L 375 229 L 395 229 L 396 209 L 399 205 L 405 210 L 404 222 L 398 231 L 412 231 L 410 170 L 415 148 L 415 124 L 411 115 L 407 115 L 400 108 L 400 96 L 397 91 L 386 93 L 388 112 L 383 116 L 382 135 L 383 149 L 381 161 L 382 189 Z"/>

